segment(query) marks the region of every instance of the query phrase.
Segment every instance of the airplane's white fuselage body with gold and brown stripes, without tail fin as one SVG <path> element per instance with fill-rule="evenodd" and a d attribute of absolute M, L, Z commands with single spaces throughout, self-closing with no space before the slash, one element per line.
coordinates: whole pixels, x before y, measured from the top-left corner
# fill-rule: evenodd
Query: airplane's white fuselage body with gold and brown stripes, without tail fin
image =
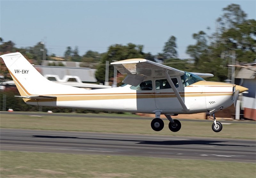
<path fill-rule="evenodd" d="M 156 89 L 156 79 L 151 80 L 153 81 L 152 90 L 131 89 L 131 85 L 110 89 L 77 89 L 74 93 L 69 91 L 69 93 L 54 95 L 57 96 L 56 99 L 39 101 L 24 99 L 24 101 L 27 104 L 39 106 L 92 110 L 142 113 L 161 110 L 162 114 L 207 112 L 220 107 L 227 108 L 233 103 L 233 84 L 199 81 L 184 87 L 178 78 L 181 85 L 177 87 L 177 90 L 188 108 L 185 111 L 172 89 Z"/>

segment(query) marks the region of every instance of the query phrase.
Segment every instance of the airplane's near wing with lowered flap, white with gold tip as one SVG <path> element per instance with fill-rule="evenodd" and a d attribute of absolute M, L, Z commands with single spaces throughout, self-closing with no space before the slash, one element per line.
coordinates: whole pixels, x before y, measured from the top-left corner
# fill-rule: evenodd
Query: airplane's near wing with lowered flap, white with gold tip
<path fill-rule="evenodd" d="M 123 83 L 137 86 L 146 76 L 164 77 L 164 72 L 167 71 L 170 76 L 179 76 L 185 74 L 184 71 L 158 64 L 147 59 L 126 59 L 122 61 L 112 62 L 113 66 L 121 74 L 127 74 Z"/>

